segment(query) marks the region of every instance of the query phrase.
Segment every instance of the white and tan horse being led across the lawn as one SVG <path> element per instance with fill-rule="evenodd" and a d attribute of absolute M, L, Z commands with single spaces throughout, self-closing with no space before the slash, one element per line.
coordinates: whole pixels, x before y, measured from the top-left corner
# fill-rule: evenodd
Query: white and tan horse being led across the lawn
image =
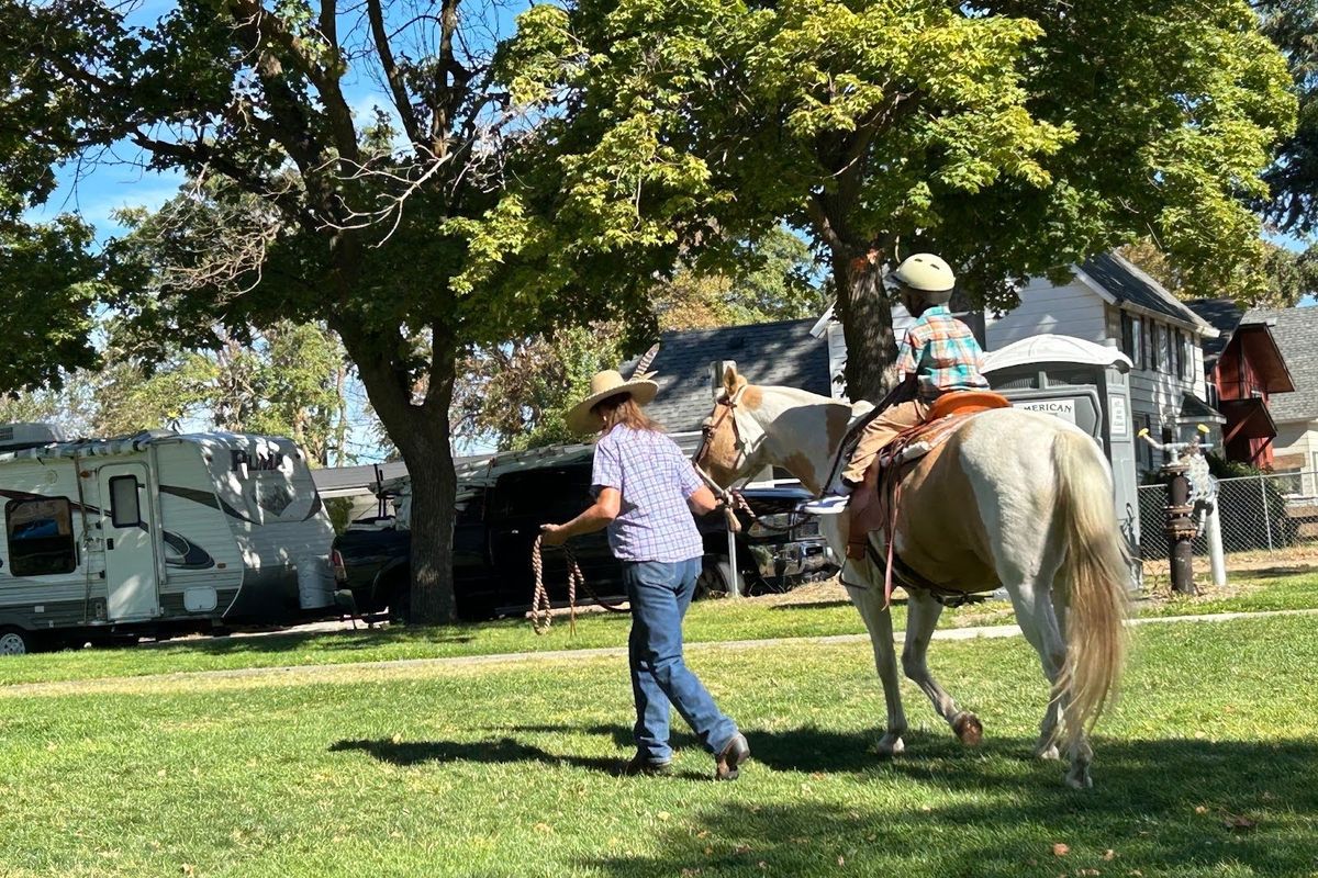
<path fill-rule="evenodd" d="M 866 403 L 853 408 L 791 387 L 757 387 L 729 369 L 705 423 L 699 462 L 724 487 L 775 465 L 818 494 L 847 426 L 866 411 Z M 822 517 L 838 557 L 846 548 L 846 520 Z M 900 561 L 940 591 L 1006 587 L 1053 687 L 1036 754 L 1057 760 L 1061 742 L 1070 760 L 1066 782 L 1093 786 L 1086 732 L 1120 673 L 1130 581 L 1111 473 L 1095 442 L 1074 425 L 1035 412 L 1002 408 L 969 417 L 902 478 L 895 534 Z M 870 541 L 882 558 L 882 533 Z M 869 628 L 887 700 L 879 753 L 895 756 L 904 748 L 907 721 L 884 565 L 849 562 L 846 581 Z M 927 590 L 907 592 L 902 667 L 957 737 L 978 744 L 978 717 L 957 707 L 925 663 L 942 604 Z"/>

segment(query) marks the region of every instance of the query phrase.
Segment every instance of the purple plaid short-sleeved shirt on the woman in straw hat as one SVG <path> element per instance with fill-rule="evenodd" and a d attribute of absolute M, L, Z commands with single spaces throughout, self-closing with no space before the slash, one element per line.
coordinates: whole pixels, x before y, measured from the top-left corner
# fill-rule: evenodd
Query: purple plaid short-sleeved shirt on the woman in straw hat
<path fill-rule="evenodd" d="M 618 517 L 609 524 L 609 548 L 621 561 L 687 561 L 705 546 L 687 498 L 700 477 L 677 444 L 663 433 L 618 424 L 594 446 L 590 484 L 617 488 Z"/>

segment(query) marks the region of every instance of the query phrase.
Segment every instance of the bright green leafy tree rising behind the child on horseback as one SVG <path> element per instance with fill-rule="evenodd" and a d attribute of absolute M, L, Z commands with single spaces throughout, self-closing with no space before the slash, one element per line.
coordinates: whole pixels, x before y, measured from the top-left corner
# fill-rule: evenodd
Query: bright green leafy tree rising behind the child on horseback
<path fill-rule="evenodd" d="M 992 307 L 1149 232 L 1201 284 L 1253 283 L 1243 201 L 1294 116 L 1244 0 L 573 0 L 518 39 L 576 203 L 688 257 L 812 236 L 853 398 L 887 387 L 880 279 L 916 250 Z"/>

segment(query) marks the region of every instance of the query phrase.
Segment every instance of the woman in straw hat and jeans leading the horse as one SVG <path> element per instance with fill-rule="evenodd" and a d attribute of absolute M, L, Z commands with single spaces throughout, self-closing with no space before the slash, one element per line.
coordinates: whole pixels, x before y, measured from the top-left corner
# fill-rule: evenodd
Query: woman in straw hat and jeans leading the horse
<path fill-rule="evenodd" d="M 592 473 L 596 502 L 567 524 L 543 525 L 542 542 L 561 545 L 608 528 L 609 546 L 622 562 L 631 604 L 627 658 L 637 706 L 637 754 L 623 771 L 670 770 L 672 704 L 714 756 L 716 779 L 731 781 L 750 758 L 750 746 L 681 657 L 681 620 L 704 554 L 692 509 L 705 513 L 718 503 L 677 444 L 641 411 L 658 390 L 641 369 L 631 380 L 613 370 L 590 379 L 590 395 L 568 412 L 567 423 L 579 433 L 600 436 Z"/>

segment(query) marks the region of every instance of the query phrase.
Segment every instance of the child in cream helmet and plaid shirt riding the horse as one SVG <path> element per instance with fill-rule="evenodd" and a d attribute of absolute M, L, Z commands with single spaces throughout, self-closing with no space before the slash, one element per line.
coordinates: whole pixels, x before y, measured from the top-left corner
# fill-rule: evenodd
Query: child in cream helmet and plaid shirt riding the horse
<path fill-rule="evenodd" d="M 929 407 L 944 394 L 987 390 L 982 369 L 985 351 L 970 326 L 952 316 L 948 301 L 957 286 L 952 267 L 932 253 L 908 257 L 888 275 L 902 304 L 916 321 L 898 348 L 896 369 L 902 387 L 895 401 L 865 426 L 841 480 L 803 511 L 829 515 L 847 507 L 849 495 L 865 482 L 879 452 L 903 430 L 925 420 Z M 851 511 L 853 515 L 858 509 Z"/>

